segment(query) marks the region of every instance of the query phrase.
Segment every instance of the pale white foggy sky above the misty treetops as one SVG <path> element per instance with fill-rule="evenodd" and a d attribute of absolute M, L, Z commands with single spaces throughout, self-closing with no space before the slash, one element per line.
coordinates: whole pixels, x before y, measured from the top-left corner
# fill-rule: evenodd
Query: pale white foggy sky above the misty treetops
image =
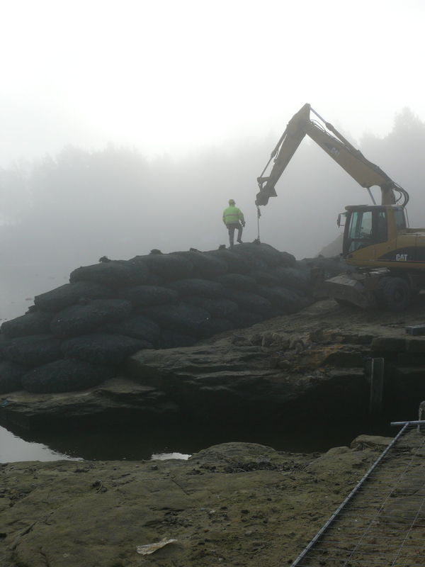
<path fill-rule="evenodd" d="M 305 102 L 359 139 L 425 119 L 421 0 L 16 0 L 0 166 L 113 142 L 187 157 L 280 135 Z"/>

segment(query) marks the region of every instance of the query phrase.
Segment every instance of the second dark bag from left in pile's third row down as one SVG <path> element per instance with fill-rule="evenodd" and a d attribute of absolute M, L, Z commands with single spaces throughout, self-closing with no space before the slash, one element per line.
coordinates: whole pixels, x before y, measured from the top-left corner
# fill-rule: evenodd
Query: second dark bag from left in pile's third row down
<path fill-rule="evenodd" d="M 50 328 L 57 337 L 77 337 L 100 325 L 124 319 L 131 313 L 131 303 L 125 299 L 94 299 L 56 313 Z"/>

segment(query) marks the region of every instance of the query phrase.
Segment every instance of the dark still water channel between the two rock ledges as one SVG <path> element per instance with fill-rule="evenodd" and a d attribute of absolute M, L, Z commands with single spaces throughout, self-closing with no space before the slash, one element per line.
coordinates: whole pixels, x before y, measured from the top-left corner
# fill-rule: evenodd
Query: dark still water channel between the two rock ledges
<path fill-rule="evenodd" d="M 336 422 L 334 425 L 297 424 L 296 427 L 235 428 L 199 424 L 125 427 L 93 425 L 84 429 L 45 432 L 16 431 L 0 427 L 0 461 L 87 459 L 95 461 L 187 459 L 189 455 L 227 442 L 259 443 L 278 451 L 313 453 L 348 446 L 359 434 L 394 436 L 383 423 Z"/>

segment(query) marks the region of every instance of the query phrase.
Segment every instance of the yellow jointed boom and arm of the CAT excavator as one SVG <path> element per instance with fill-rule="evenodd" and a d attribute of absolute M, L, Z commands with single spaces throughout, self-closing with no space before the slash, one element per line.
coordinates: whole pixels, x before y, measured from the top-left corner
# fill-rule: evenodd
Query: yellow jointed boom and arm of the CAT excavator
<path fill-rule="evenodd" d="M 311 120 L 310 112 L 314 113 L 324 126 L 318 123 L 317 120 Z M 382 172 L 380 167 L 369 162 L 360 150 L 356 150 L 330 123 L 325 122 L 310 107 L 310 104 L 305 104 L 288 122 L 285 132 L 271 153 L 268 164 L 261 176 L 257 178 L 260 188 L 259 193 L 256 195 L 257 206 L 266 205 L 270 197 L 276 197 L 276 183 L 305 135 L 310 136 L 358 184 L 368 189 L 374 204 L 376 203 L 370 191 L 372 186 L 380 187 L 382 205 L 393 205 L 403 199 L 403 202 L 399 204 L 405 206 L 407 201 L 409 201 L 407 191 L 397 185 L 395 181 L 392 181 L 385 172 Z M 272 160 L 273 166 L 270 174 L 264 176 Z"/>

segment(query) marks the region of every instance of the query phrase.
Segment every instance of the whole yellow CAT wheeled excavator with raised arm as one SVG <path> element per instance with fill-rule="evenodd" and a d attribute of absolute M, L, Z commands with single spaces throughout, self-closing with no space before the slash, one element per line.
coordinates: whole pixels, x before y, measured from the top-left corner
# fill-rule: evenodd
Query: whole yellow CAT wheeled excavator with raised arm
<path fill-rule="evenodd" d="M 312 114 L 318 120 L 312 119 Z M 425 228 L 408 228 L 405 207 L 409 193 L 369 162 L 308 103 L 290 119 L 257 178 L 259 216 L 259 206 L 277 196 L 276 184 L 305 135 L 367 189 L 373 203 L 349 205 L 339 214 L 337 224 L 344 226 L 342 256 L 348 270 L 321 281 L 316 295 L 361 308 L 404 310 L 425 288 Z M 380 188 L 380 204 L 371 191 L 374 186 Z"/>

